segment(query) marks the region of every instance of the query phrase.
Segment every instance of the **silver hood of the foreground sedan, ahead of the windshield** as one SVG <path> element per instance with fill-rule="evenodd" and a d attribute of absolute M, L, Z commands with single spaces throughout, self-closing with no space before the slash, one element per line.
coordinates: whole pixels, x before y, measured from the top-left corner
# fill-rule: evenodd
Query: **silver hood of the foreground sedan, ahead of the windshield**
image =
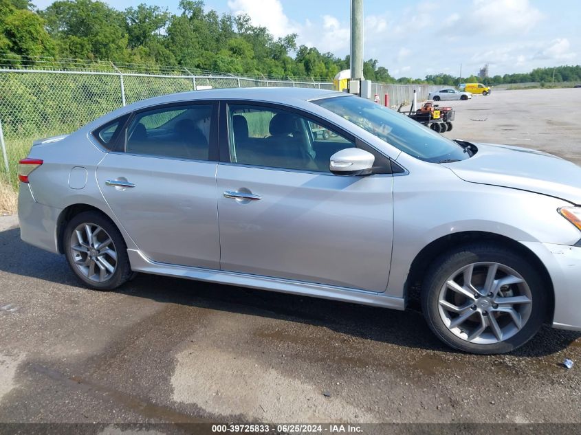
<path fill-rule="evenodd" d="M 443 165 L 470 183 L 527 190 L 581 204 L 581 168 L 571 161 L 519 146 L 475 145 L 474 157 Z"/>

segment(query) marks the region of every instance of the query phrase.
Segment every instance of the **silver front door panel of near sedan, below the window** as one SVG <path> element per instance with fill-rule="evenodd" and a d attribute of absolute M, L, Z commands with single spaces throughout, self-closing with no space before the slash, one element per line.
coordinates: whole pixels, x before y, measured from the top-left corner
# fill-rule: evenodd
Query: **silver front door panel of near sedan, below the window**
<path fill-rule="evenodd" d="M 223 270 L 385 291 L 393 177 L 220 164 L 217 182 Z"/>

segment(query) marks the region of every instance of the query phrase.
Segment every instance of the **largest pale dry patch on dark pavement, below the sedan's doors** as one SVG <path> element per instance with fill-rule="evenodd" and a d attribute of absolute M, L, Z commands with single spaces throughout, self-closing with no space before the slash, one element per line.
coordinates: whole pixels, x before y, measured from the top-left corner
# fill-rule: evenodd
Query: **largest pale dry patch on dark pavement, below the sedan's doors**
<path fill-rule="evenodd" d="M 177 355 L 173 399 L 224 415 L 261 421 L 374 421 L 319 386 L 250 357 L 207 346 Z"/>

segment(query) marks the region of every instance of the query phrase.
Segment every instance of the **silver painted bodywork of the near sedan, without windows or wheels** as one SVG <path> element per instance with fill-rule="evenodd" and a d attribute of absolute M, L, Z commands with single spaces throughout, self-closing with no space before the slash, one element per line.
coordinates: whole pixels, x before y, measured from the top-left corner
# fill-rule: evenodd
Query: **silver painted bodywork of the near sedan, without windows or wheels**
<path fill-rule="evenodd" d="M 22 183 L 20 189 L 21 236 L 32 245 L 58 252 L 63 210 L 86 204 L 104 212 L 119 227 L 136 271 L 403 309 L 410 265 L 426 245 L 458 232 L 500 234 L 530 249 L 547 267 L 555 293 L 553 326 L 581 330 L 577 284 L 581 248 L 573 247 L 581 232 L 556 211 L 581 203 L 575 188 L 580 185 L 580 168 L 555 157 L 481 144 L 477 144 L 480 157 L 476 153 L 452 164 L 426 163 L 309 102 L 329 96 L 355 98 L 318 89 L 180 93 L 131 104 L 55 142 L 39 142 L 29 157 L 43 159 L 44 164 L 30 174 L 30 184 Z M 318 115 L 391 157 L 406 172 L 393 177 L 340 177 L 131 157 L 108 153 L 90 135 L 98 126 L 135 109 L 221 98 L 275 102 Z M 121 157 L 143 166 L 132 167 Z M 523 159 L 529 167 L 521 164 Z M 69 187 L 69 174 L 75 167 L 87 170 L 83 188 Z M 147 179 L 146 170 L 155 177 Z M 177 171 L 181 177 L 160 175 L 166 170 Z M 136 187 L 107 186 L 107 179 L 120 177 Z M 192 186 L 196 194 L 203 190 L 201 197 L 188 195 Z M 241 203 L 223 197 L 224 191 L 241 188 L 262 199 Z M 168 204 L 164 194 L 181 202 Z M 135 201 L 127 205 L 129 198 Z M 138 216 L 128 216 L 129 208 Z M 170 225 L 191 232 L 185 240 L 172 239 L 177 247 L 173 257 L 155 247 L 160 238 L 146 234 L 166 214 Z M 188 216 L 201 216 L 199 228 L 204 230 Z M 218 234 L 223 237 L 221 243 L 217 243 Z M 146 249 L 141 246 L 142 237 Z M 188 245 L 196 240 L 208 245 L 208 250 L 195 245 L 193 255 L 186 256 Z M 281 243 L 285 249 L 276 252 L 278 257 L 272 256 Z M 220 245 L 221 269 L 217 264 Z M 283 258 L 287 249 L 292 256 Z"/>

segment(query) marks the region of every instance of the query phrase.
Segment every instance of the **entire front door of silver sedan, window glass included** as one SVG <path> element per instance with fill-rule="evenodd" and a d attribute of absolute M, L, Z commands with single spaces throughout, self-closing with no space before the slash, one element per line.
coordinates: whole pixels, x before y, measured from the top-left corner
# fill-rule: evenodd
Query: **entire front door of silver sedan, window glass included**
<path fill-rule="evenodd" d="M 221 269 L 383 292 L 393 231 L 388 174 L 344 177 L 347 133 L 263 104 L 229 104 L 217 171 Z M 325 134 L 321 129 L 325 129 Z"/>

